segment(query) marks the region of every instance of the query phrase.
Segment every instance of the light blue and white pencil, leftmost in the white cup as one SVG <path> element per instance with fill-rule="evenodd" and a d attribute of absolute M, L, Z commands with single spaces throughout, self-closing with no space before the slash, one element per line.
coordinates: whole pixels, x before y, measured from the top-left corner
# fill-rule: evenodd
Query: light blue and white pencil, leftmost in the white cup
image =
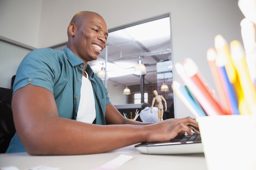
<path fill-rule="evenodd" d="M 195 117 L 207 116 L 204 111 L 195 104 L 195 101 L 180 83 L 173 81 L 172 88 Z"/>

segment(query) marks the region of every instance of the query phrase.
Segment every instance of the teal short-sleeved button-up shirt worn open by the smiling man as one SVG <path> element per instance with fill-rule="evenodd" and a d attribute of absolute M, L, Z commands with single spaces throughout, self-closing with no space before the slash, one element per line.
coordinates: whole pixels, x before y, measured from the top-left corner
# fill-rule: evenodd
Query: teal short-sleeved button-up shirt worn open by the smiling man
<path fill-rule="evenodd" d="M 84 67 L 83 61 L 67 47 L 63 50 L 36 49 L 27 54 L 18 67 L 13 93 L 27 84 L 47 88 L 54 94 L 59 117 L 76 120 Z M 110 104 L 108 91 L 89 65 L 86 72 L 94 92 L 95 122 L 105 125 L 106 105 Z M 11 139 L 9 152 L 25 152 L 17 133 Z"/>

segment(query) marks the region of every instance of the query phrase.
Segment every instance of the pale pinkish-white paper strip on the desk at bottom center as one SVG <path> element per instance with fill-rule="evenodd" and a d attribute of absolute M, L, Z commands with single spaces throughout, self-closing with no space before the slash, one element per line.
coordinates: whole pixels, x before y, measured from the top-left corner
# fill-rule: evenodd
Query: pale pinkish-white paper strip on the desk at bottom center
<path fill-rule="evenodd" d="M 113 170 L 127 161 L 132 159 L 132 156 L 129 155 L 119 155 L 117 158 L 112 159 L 111 161 L 108 161 L 107 163 L 103 164 L 102 166 L 99 166 L 97 168 L 94 168 L 92 170 Z"/>

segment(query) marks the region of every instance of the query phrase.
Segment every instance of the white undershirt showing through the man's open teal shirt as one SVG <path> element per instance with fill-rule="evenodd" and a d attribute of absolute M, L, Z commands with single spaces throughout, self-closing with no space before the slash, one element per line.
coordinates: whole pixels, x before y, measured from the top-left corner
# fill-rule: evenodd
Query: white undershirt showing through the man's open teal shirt
<path fill-rule="evenodd" d="M 85 74 L 86 77 L 88 77 L 86 72 Z M 86 77 L 82 77 L 81 97 L 76 120 L 91 124 L 96 118 L 96 109 L 92 83 L 90 79 Z"/>

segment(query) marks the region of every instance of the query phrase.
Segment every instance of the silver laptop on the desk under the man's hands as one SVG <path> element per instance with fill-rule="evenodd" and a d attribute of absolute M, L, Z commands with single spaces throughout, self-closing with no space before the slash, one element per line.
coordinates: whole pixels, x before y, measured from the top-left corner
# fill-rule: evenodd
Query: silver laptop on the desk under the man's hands
<path fill-rule="evenodd" d="M 148 142 L 135 145 L 135 148 L 144 154 L 170 155 L 203 153 L 203 146 L 200 135 L 195 132 L 193 135 L 175 137 L 171 141 Z"/>

